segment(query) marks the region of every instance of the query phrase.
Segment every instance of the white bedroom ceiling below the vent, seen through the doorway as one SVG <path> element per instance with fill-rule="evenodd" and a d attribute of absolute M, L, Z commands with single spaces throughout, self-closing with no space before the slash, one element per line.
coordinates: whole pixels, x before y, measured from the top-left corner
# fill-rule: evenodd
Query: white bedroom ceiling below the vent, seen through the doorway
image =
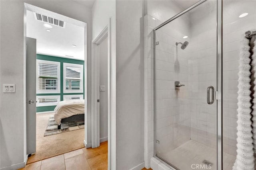
<path fill-rule="evenodd" d="M 65 28 L 51 24 L 48 32 L 43 24 L 43 21 L 36 20 L 34 12 L 27 10 L 27 37 L 36 39 L 38 54 L 84 60 L 84 27 L 69 22 Z"/>

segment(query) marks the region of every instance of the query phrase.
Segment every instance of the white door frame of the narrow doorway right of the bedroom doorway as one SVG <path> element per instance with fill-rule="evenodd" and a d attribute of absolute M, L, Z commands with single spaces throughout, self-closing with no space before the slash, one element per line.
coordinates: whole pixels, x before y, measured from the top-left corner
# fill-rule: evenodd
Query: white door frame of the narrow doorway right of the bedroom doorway
<path fill-rule="evenodd" d="M 110 20 L 108 25 L 92 40 L 92 148 L 100 146 L 100 53 L 99 45 L 108 38 L 108 144 L 110 143 Z M 110 147 L 110 145 L 108 145 Z M 110 149 L 108 149 L 110 160 Z M 108 161 L 110 162 L 110 161 Z"/>

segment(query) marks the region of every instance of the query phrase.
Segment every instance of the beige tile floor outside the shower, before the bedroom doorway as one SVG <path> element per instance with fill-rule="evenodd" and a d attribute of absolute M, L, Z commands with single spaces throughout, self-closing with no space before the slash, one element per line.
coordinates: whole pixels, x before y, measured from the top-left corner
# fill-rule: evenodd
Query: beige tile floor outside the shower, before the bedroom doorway
<path fill-rule="evenodd" d="M 107 170 L 108 142 L 98 148 L 82 148 L 27 164 L 20 170 Z"/>

